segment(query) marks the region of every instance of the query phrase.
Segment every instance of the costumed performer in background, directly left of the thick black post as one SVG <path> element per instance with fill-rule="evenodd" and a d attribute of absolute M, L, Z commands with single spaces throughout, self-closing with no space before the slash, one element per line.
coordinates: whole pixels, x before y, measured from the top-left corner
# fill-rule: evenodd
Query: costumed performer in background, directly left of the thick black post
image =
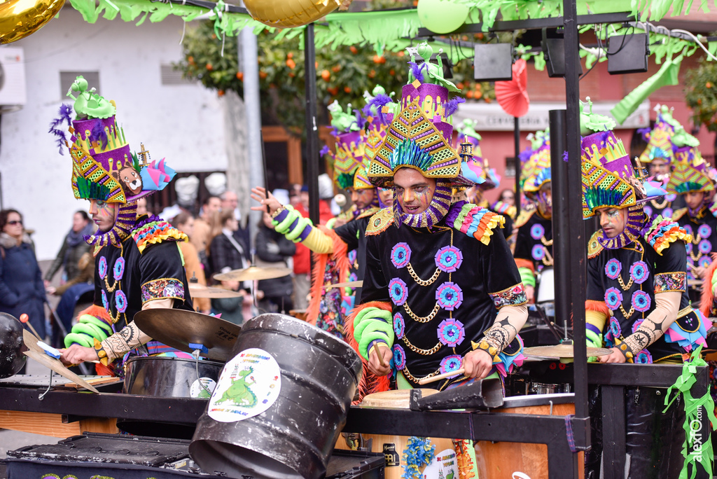
<path fill-rule="evenodd" d="M 553 196 L 550 169 L 549 131 L 532 138 L 528 164 L 531 174 L 523 182 L 523 192 L 532 201 L 516 219 L 516 246 L 513 257 L 521 273 L 528 301 L 535 300 L 536 275 L 553 266 Z"/>

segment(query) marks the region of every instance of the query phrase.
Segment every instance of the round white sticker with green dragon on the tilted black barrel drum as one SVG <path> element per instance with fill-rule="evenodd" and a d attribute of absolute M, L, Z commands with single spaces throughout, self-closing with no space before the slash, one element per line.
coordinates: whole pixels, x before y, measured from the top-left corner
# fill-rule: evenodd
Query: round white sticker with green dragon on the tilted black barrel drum
<path fill-rule="evenodd" d="M 245 349 L 224 365 L 207 413 L 219 422 L 241 421 L 269 409 L 280 391 L 276 359 L 263 349 Z"/>

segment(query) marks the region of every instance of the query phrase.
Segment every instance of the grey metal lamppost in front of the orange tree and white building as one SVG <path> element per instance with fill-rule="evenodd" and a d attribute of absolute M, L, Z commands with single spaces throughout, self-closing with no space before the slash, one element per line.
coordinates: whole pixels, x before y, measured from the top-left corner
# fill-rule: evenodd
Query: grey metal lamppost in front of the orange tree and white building
<path fill-rule="evenodd" d="M 242 71 L 244 72 L 244 108 L 247 112 L 247 161 L 249 163 L 249 184 L 265 184 L 264 163 L 262 161 L 262 110 L 259 103 L 259 62 L 257 59 L 257 36 L 252 29 L 245 28 L 238 38 L 242 60 Z M 247 228 L 249 229 L 250 243 L 254 244 L 254 237 L 257 232 L 257 224 L 262 217 L 262 212 L 250 212 Z"/>

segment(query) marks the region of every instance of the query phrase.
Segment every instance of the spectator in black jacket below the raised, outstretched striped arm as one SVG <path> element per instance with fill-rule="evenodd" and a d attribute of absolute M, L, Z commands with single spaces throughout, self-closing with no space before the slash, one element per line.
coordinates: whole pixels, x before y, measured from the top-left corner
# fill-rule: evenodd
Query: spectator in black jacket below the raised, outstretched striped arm
<path fill-rule="evenodd" d="M 257 266 L 288 267 L 291 257 L 296 253 L 294 242 L 274 230 L 272 217 L 267 212 L 259 224 L 255 245 Z M 262 280 L 259 282 L 259 290 L 264 293 L 264 298 L 259 302 L 260 309 L 271 313 L 285 313 L 294 308 L 291 300 L 294 290 L 291 276 Z"/>

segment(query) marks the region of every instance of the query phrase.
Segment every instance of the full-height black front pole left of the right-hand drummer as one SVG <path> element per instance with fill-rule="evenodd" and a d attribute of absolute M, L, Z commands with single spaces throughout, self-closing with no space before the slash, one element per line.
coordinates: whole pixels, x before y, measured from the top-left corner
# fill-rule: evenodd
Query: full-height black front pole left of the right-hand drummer
<path fill-rule="evenodd" d="M 565 42 L 565 102 L 566 146 L 568 152 L 568 222 L 576 227 L 570 238 L 571 311 L 573 314 L 575 415 L 588 417 L 587 404 L 587 356 L 585 343 L 585 288 L 587 284 L 587 238 L 582 224 L 581 159 L 580 159 L 580 57 L 578 52 L 578 25 L 576 0 L 563 0 Z M 576 431 L 578 446 L 589 445 L 590 430 Z"/>

